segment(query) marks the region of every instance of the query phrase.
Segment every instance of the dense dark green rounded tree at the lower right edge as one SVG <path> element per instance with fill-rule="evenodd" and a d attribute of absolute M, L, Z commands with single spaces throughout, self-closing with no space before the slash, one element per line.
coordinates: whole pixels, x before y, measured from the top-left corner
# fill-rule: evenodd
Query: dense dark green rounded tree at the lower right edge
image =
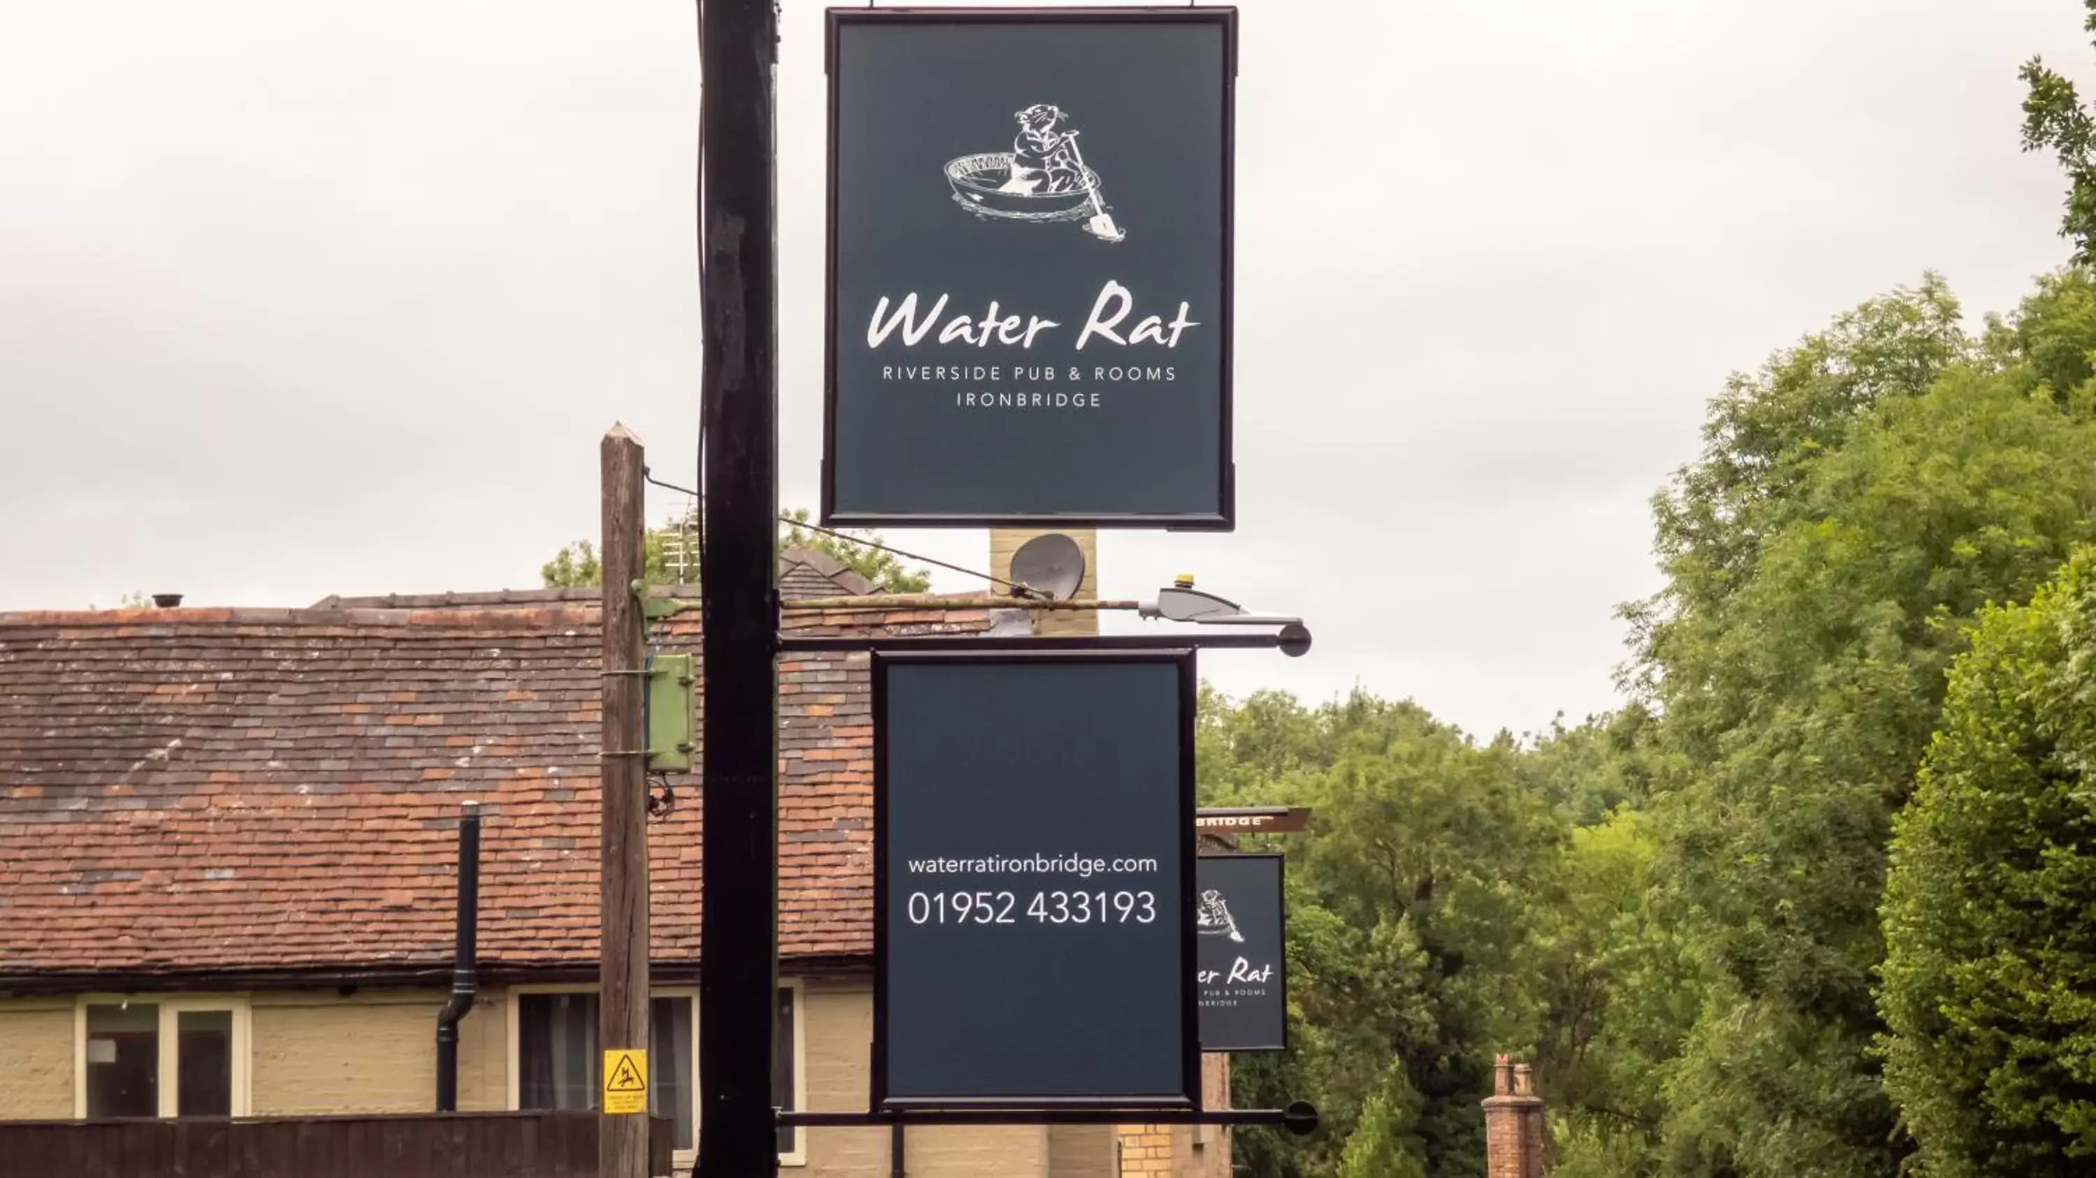
<path fill-rule="evenodd" d="M 1886 1088 L 1939 1178 L 2096 1170 L 2096 551 L 1987 610 L 1886 878 Z"/>

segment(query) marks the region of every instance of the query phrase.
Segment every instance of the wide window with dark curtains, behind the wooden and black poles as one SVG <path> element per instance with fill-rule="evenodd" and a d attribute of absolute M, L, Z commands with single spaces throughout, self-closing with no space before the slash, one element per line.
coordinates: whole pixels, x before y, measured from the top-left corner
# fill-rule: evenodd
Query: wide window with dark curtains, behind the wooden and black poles
<path fill-rule="evenodd" d="M 780 987 L 773 1092 L 792 1109 L 799 1096 L 796 987 Z M 518 1109 L 595 1109 L 604 1086 L 604 1050 L 597 1040 L 597 996 L 583 991 L 532 991 L 511 1004 L 516 1067 L 511 1069 Z M 656 994 L 648 1006 L 648 1111 L 677 1124 L 679 1161 L 698 1151 L 698 998 Z M 801 1163 L 799 1132 L 780 1130 L 780 1155 Z"/>

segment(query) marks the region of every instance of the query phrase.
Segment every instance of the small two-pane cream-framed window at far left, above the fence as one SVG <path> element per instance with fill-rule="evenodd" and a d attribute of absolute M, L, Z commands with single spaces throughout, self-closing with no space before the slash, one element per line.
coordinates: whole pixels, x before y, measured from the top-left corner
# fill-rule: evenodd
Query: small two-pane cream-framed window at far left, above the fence
<path fill-rule="evenodd" d="M 247 1113 L 247 1006 L 222 998 L 88 998 L 75 1019 L 82 1117 Z"/>

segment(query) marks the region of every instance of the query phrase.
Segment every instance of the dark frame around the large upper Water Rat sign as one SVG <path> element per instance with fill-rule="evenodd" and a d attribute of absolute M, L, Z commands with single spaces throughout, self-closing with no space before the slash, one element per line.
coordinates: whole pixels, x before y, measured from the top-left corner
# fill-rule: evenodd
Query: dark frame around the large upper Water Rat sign
<path fill-rule="evenodd" d="M 843 511 L 836 505 L 836 163 L 838 163 L 838 40 L 849 25 L 1220 25 L 1222 27 L 1222 247 L 1220 247 L 1220 367 L 1218 455 L 1214 514 L 1105 514 L 1105 511 Z M 840 8 L 824 13 L 824 80 L 828 130 L 824 143 L 824 283 L 822 283 L 822 493 L 817 518 L 830 528 L 1165 528 L 1182 532 L 1237 530 L 1235 384 L 1237 384 L 1237 8 L 1161 4 L 1102 8 Z"/>

